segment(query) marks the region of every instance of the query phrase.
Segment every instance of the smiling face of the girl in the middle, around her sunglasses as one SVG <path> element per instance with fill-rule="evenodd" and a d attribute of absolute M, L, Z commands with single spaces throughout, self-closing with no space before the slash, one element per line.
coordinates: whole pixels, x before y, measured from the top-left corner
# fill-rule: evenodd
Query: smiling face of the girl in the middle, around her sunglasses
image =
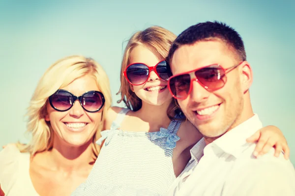
<path fill-rule="evenodd" d="M 149 67 L 155 66 L 159 59 L 151 50 L 143 45 L 134 47 L 129 56 L 129 63 L 143 63 Z M 130 85 L 132 91 L 143 102 L 151 105 L 162 105 L 166 101 L 171 101 L 172 96 L 167 88 L 167 81 L 161 80 L 158 75 L 151 71 L 148 81 L 142 85 Z"/>

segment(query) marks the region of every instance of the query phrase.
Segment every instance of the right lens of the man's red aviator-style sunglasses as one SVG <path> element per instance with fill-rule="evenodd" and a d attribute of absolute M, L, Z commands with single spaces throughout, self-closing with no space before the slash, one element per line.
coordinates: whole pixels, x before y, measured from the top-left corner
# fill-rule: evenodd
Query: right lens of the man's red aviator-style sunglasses
<path fill-rule="evenodd" d="M 218 65 L 213 65 L 207 68 L 196 71 L 198 80 L 210 90 L 222 88 L 225 84 L 224 70 Z"/>

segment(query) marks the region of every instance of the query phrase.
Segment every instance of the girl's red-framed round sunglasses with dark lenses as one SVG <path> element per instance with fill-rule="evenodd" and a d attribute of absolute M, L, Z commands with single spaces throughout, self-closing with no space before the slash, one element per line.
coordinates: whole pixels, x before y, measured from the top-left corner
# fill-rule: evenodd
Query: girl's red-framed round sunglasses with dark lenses
<path fill-rule="evenodd" d="M 151 71 L 154 71 L 160 79 L 168 81 L 169 74 L 167 66 L 168 64 L 165 60 L 160 61 L 153 67 L 148 67 L 144 63 L 132 63 L 126 67 L 123 75 L 132 85 L 142 85 L 146 83 Z"/>

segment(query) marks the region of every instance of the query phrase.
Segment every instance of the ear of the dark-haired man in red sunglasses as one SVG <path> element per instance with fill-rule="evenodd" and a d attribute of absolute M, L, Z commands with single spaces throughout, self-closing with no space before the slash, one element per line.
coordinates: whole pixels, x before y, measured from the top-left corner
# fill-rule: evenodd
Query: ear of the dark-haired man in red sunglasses
<path fill-rule="evenodd" d="M 242 91 L 246 93 L 253 82 L 253 73 L 250 64 L 244 61 L 241 65 L 241 87 Z"/>

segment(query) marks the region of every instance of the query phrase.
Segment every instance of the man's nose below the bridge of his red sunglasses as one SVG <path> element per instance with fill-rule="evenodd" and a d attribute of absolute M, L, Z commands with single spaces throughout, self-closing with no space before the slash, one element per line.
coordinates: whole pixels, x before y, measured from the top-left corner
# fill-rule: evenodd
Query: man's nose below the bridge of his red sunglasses
<path fill-rule="evenodd" d="M 192 91 L 189 95 L 190 100 L 197 103 L 206 101 L 210 95 L 210 92 L 207 91 L 197 80 L 192 82 Z"/>

